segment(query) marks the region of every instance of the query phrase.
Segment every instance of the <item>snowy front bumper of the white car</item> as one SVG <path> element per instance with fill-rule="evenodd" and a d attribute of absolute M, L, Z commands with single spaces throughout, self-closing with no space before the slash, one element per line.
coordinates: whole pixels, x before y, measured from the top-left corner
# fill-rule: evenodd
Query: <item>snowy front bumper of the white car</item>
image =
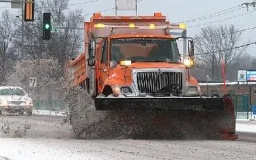
<path fill-rule="evenodd" d="M 33 110 L 33 106 L 23 106 L 23 105 L 8 105 L 8 106 L 0 106 L 2 112 L 31 112 Z"/>

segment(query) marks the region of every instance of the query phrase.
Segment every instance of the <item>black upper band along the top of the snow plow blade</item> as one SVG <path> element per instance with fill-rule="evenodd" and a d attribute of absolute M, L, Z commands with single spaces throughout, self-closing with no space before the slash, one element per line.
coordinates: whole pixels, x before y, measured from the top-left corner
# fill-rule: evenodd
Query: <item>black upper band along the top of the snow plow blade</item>
<path fill-rule="evenodd" d="M 97 110 L 223 111 L 223 98 L 210 97 L 97 97 Z"/>

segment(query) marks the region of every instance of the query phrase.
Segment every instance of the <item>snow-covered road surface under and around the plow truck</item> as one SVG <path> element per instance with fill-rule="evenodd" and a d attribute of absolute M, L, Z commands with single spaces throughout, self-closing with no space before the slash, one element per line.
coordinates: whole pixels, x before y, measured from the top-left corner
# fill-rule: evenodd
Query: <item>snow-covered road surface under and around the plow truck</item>
<path fill-rule="evenodd" d="M 256 121 L 237 121 L 236 141 L 74 140 L 63 118 L 0 116 L 0 160 L 256 159 Z"/>

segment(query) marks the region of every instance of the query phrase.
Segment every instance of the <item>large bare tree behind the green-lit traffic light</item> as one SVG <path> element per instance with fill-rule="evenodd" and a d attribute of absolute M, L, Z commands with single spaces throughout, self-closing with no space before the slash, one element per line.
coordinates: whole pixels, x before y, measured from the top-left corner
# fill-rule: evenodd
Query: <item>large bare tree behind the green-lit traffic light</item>
<path fill-rule="evenodd" d="M 81 10 L 66 12 L 69 0 L 38 1 L 35 5 L 35 21 L 25 23 L 25 55 L 23 59 L 57 59 L 59 75 L 63 76 L 63 66 L 72 54 L 79 54 L 81 50 L 81 31 L 70 29 L 83 25 Z M 52 27 L 67 27 L 58 33 L 51 33 L 51 40 L 42 40 L 43 13 L 51 12 Z M 20 22 L 16 35 L 20 37 Z M 16 38 L 16 47 L 20 48 L 20 38 Z"/>

